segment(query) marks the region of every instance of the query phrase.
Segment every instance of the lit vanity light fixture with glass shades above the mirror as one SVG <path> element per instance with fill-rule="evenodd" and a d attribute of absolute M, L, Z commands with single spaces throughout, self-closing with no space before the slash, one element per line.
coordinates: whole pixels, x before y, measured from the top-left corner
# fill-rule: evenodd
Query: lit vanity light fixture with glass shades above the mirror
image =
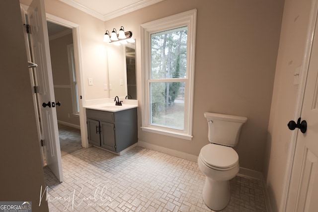
<path fill-rule="evenodd" d="M 131 31 L 125 32 L 124 27 L 121 26 L 119 30 L 119 34 L 117 34 L 117 30 L 115 28 L 113 29 L 111 34 L 109 33 L 108 30 L 106 30 L 104 34 L 104 42 L 114 43 L 117 45 L 120 45 L 120 43 L 127 44 L 127 42 L 134 43 L 135 40 L 131 38 L 132 35 L 133 33 Z"/>

